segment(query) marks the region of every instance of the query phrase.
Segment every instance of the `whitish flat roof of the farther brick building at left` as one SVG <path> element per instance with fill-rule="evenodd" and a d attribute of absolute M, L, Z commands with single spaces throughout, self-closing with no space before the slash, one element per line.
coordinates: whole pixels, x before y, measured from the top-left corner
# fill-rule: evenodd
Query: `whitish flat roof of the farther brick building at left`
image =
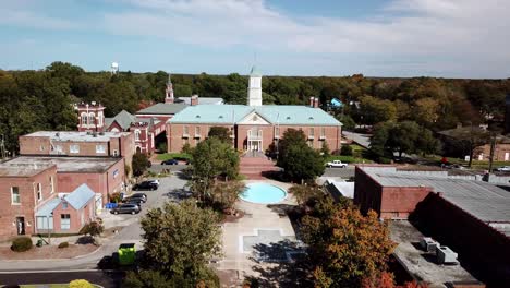
<path fill-rule="evenodd" d="M 130 132 L 102 132 L 92 134 L 80 131 L 37 131 L 24 136 L 50 137 L 52 141 L 108 142 L 112 137 L 126 136 Z"/>

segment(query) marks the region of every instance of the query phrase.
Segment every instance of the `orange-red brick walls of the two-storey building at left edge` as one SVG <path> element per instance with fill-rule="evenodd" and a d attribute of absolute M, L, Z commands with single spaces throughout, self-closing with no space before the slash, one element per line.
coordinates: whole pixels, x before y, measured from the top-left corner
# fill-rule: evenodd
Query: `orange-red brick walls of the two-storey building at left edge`
<path fill-rule="evenodd" d="M 53 177 L 54 192 L 50 192 L 50 177 Z M 41 183 L 42 200 L 36 203 L 34 183 Z M 11 187 L 19 187 L 21 204 L 12 204 Z M 16 217 L 25 218 L 25 233 L 35 232 L 35 207 L 45 205 L 58 192 L 57 168 L 53 166 L 33 177 L 0 177 L 0 240 L 17 235 Z M 14 225 L 13 225 L 14 224 Z"/>

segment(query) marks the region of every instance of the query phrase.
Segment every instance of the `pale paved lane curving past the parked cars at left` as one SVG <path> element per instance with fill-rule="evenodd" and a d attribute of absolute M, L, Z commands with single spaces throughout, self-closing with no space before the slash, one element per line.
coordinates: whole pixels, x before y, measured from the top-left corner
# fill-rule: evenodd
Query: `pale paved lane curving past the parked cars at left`
<path fill-rule="evenodd" d="M 135 243 L 142 248 L 142 229 L 139 218 L 143 217 L 148 208 L 160 207 L 170 199 L 175 199 L 178 193 L 182 193 L 185 180 L 177 176 L 160 178 L 160 185 L 157 191 L 147 191 L 147 203 L 143 206 L 138 215 L 111 215 L 122 217 L 131 224 L 119 231 L 111 240 L 105 241 L 102 245 L 94 253 L 70 260 L 33 260 L 33 261 L 0 261 L 0 273 L 13 271 L 69 271 L 69 269 L 95 269 L 97 263 L 105 256 L 117 252 L 121 243 Z M 109 217 L 109 216 L 106 216 Z M 37 249 L 37 248 L 34 248 Z"/>

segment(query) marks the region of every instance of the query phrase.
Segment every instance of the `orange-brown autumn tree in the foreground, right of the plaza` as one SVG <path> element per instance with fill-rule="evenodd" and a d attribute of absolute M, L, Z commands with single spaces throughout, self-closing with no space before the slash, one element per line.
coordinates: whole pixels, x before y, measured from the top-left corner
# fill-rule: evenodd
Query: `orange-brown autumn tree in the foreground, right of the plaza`
<path fill-rule="evenodd" d="M 330 206 L 303 218 L 303 239 L 315 264 L 317 287 L 360 287 L 363 278 L 386 269 L 394 243 L 377 213 L 363 216 L 356 207 Z"/>

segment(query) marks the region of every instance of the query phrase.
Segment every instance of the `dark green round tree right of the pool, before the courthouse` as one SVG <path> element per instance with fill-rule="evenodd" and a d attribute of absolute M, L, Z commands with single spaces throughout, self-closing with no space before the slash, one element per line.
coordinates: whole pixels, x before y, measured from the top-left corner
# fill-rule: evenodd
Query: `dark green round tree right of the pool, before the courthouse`
<path fill-rule="evenodd" d="M 313 180 L 324 173 L 320 153 L 309 147 L 303 131 L 288 129 L 279 143 L 277 165 L 284 173 L 295 180 Z"/>

